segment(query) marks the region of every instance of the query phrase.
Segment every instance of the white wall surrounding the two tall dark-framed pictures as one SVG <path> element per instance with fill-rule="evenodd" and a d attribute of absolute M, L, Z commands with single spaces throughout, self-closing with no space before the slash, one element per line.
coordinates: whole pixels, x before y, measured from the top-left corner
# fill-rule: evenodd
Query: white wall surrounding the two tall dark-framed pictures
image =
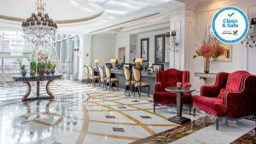
<path fill-rule="evenodd" d="M 154 36 L 160 35 L 160 34 L 166 34 L 166 32 L 170 32 L 170 29 L 163 29 L 153 32 L 143 32 L 137 34 L 137 57 L 141 57 L 141 39 L 142 38 L 149 38 L 149 63 L 154 63 Z M 166 51 L 165 51 L 165 62 L 170 61 L 170 51 L 169 48 L 166 45 Z"/>

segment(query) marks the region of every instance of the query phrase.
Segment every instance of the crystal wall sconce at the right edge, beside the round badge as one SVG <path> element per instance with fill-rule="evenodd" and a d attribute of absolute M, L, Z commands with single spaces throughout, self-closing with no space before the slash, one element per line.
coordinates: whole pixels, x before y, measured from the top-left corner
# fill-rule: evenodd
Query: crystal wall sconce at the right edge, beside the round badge
<path fill-rule="evenodd" d="M 242 41 L 242 44 L 246 44 L 247 48 L 253 48 L 256 47 L 256 18 L 253 18 L 251 20 L 251 26 L 249 29 L 249 32 L 247 34 L 247 37 L 245 37 Z"/>

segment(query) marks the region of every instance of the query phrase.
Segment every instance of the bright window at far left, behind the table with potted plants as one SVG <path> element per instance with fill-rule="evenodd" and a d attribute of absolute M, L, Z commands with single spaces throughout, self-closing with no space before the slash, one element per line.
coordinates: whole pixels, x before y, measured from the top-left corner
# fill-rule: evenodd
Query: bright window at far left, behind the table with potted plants
<path fill-rule="evenodd" d="M 20 72 L 15 64 L 17 58 L 21 58 L 26 66 L 29 65 L 26 55 L 32 50 L 32 43 L 24 39 L 22 32 L 0 31 L 0 83 L 12 81 L 12 77 Z"/>

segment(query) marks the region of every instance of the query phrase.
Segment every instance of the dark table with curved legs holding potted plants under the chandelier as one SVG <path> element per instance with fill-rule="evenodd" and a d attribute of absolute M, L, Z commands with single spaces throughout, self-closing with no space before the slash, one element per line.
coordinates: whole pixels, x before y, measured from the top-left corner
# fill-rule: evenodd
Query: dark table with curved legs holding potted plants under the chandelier
<path fill-rule="evenodd" d="M 46 100 L 46 99 L 53 99 L 54 95 L 49 90 L 49 84 L 53 82 L 55 79 L 61 79 L 62 75 L 44 75 L 44 76 L 17 76 L 13 77 L 15 82 L 23 82 L 27 85 L 27 91 L 26 94 L 23 96 L 22 101 L 32 101 L 32 100 Z M 46 92 L 49 96 L 40 96 L 40 82 L 41 81 L 47 81 L 46 83 Z M 28 96 L 31 94 L 31 82 L 37 82 L 37 95 L 36 97 L 28 98 Z"/>

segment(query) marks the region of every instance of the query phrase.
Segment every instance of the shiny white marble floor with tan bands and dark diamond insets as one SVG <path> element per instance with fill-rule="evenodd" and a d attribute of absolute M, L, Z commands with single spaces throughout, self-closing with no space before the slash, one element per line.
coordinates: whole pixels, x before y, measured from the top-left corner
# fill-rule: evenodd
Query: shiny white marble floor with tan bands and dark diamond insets
<path fill-rule="evenodd" d="M 173 124 L 167 119 L 176 115 L 176 108 L 157 107 L 154 113 L 152 96 L 139 99 L 124 95 L 124 90 L 106 91 L 73 81 L 55 81 L 50 87 L 55 100 L 25 103 L 20 101 L 25 85 L 0 88 L 1 144 L 225 144 L 250 141 L 247 135 L 255 135 L 253 121 L 223 123 L 217 131 L 212 118 L 193 117 L 186 107 L 183 116 L 192 122 Z M 41 94 L 46 94 L 44 89 Z"/>

